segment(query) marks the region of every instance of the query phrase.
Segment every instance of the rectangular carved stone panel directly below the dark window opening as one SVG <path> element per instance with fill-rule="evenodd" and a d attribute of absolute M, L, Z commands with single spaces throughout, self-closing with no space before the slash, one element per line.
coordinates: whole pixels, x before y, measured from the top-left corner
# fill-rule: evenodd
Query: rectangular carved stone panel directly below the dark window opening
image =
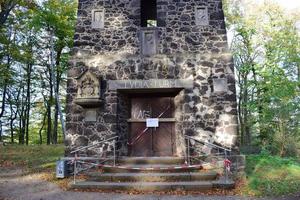
<path fill-rule="evenodd" d="M 146 56 L 157 54 L 157 30 L 155 28 L 141 29 L 142 54 Z"/>

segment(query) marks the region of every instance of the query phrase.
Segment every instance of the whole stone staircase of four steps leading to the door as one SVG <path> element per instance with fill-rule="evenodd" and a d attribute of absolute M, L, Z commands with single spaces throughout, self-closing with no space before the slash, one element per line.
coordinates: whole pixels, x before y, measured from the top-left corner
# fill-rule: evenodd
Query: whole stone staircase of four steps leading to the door
<path fill-rule="evenodd" d="M 202 166 L 186 166 L 177 157 L 126 157 L 115 167 L 103 166 L 100 171 L 86 173 L 87 179 L 72 184 L 73 189 L 134 191 L 207 191 L 216 187 L 232 188 L 234 182 L 220 181 L 213 170 Z"/>

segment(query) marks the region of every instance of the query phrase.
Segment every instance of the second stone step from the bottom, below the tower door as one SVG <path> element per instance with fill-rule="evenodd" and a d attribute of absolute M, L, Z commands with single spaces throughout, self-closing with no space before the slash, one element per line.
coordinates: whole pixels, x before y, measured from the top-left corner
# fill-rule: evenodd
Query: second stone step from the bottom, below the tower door
<path fill-rule="evenodd" d="M 216 180 L 217 173 L 205 171 L 199 173 L 99 173 L 87 174 L 89 181 L 101 182 L 184 182 Z"/>

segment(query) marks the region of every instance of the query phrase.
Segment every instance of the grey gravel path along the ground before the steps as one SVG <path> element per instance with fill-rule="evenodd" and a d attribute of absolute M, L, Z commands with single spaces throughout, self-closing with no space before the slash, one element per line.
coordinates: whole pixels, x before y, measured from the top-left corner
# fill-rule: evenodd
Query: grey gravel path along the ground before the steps
<path fill-rule="evenodd" d="M 0 169 L 1 171 L 1 169 Z M 2 171 L 3 172 L 3 171 Z M 254 198 L 235 196 L 171 196 L 128 195 L 97 192 L 63 191 L 57 185 L 41 180 L 37 175 L 19 176 L 0 173 L 0 200 L 248 200 Z M 266 199 L 266 198 L 265 198 Z M 299 200 L 300 194 L 280 200 Z M 263 199 L 261 199 L 263 200 Z M 277 199 L 278 200 L 278 199 Z"/>

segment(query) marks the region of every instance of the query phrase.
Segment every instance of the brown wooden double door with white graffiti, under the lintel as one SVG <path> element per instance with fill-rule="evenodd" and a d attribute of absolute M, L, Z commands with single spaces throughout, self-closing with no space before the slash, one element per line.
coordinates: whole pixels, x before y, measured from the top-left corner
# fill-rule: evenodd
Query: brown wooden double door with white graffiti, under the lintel
<path fill-rule="evenodd" d="M 147 128 L 147 118 L 172 119 L 172 97 L 132 98 L 131 130 L 129 134 L 131 156 L 172 156 L 174 152 L 174 122 L 164 120 L 158 128 Z M 137 140 L 137 138 L 139 138 Z"/>

